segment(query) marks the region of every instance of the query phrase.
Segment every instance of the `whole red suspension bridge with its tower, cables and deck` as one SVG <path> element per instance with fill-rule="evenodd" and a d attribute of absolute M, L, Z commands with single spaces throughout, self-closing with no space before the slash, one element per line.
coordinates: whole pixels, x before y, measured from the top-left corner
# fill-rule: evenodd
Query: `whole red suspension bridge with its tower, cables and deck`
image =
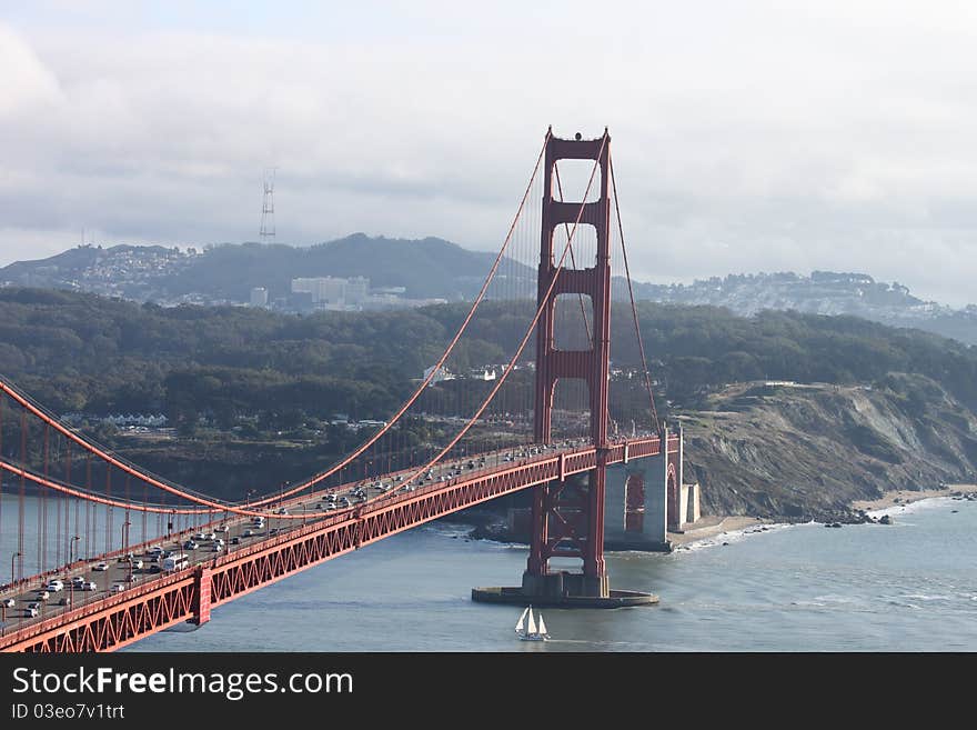
<path fill-rule="evenodd" d="M 566 200 L 573 183 L 580 198 Z M 612 300 L 631 307 L 633 338 L 614 343 L 626 367 L 612 367 Z M 679 437 L 655 409 L 606 129 L 596 139 L 546 132 L 502 247 L 444 339 L 410 397 L 355 449 L 239 501 L 131 463 L 0 379 L 0 547 L 10 557 L 0 649 L 111 651 L 202 624 L 298 571 L 521 490 L 532 492 L 522 584 L 473 589 L 473 599 L 656 601 L 612 589 L 604 564 L 607 468 L 663 454 L 669 509 L 681 473 Z M 551 563 L 567 559 L 576 569 Z"/>

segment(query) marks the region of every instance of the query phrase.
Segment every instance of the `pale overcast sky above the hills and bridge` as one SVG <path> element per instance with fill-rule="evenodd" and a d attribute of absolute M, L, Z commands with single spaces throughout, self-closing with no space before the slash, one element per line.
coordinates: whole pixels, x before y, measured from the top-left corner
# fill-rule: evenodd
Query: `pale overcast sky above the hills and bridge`
<path fill-rule="evenodd" d="M 0 8 L 0 266 L 255 240 L 268 164 L 281 242 L 491 249 L 547 124 L 606 124 L 638 279 L 977 302 L 973 1 Z"/>

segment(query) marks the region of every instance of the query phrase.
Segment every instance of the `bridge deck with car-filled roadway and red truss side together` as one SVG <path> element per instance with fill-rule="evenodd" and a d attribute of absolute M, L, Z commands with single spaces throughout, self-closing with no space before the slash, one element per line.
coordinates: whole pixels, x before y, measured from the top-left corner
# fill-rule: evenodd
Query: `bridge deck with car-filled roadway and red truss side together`
<path fill-rule="evenodd" d="M 668 439 L 668 451 L 677 439 Z M 657 436 L 615 441 L 607 463 L 656 456 Z M 275 503 L 264 524 L 258 528 L 248 517 L 216 519 L 181 533 L 132 546 L 135 568 L 124 561 L 123 551 L 77 561 L 70 568 L 36 576 L 0 591 L 3 626 L 2 651 L 112 651 L 167 627 L 209 620 L 210 608 L 390 537 L 416 524 L 528 487 L 588 471 L 596 464 L 596 451 L 586 441 L 517 449 L 454 459 L 432 468 L 420 483 L 403 480 L 404 470 L 312 492 Z M 355 493 L 360 491 L 361 497 Z M 306 520 L 275 517 L 279 509 L 290 514 L 329 510 L 330 493 L 338 507 L 352 511 L 335 517 Z M 384 499 L 375 499 L 385 494 Z M 365 500 L 365 501 L 364 501 Z M 194 546 L 187 540 L 194 539 Z M 212 533 L 212 534 L 211 534 Z M 216 539 L 224 541 L 215 548 Z M 153 547 L 170 553 L 185 553 L 189 567 L 165 571 L 150 562 Z M 104 568 L 99 563 L 104 563 Z M 102 568 L 102 569 L 97 569 Z M 94 590 L 79 590 L 71 579 L 93 582 Z M 64 589 L 39 600 L 43 586 L 60 579 Z M 29 614 L 36 604 L 38 616 Z"/>

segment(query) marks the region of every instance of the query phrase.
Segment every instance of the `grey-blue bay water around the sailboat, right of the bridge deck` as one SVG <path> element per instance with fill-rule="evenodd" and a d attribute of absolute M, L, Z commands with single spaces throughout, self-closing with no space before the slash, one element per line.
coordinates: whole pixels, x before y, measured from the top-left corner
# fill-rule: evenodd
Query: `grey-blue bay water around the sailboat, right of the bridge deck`
<path fill-rule="evenodd" d="M 892 526 L 779 526 L 669 554 L 607 553 L 612 586 L 661 602 L 545 609 L 545 643 L 517 640 L 521 607 L 470 598 L 473 586 L 518 584 L 526 547 L 437 522 L 127 651 L 977 651 L 977 502 L 888 512 Z"/>

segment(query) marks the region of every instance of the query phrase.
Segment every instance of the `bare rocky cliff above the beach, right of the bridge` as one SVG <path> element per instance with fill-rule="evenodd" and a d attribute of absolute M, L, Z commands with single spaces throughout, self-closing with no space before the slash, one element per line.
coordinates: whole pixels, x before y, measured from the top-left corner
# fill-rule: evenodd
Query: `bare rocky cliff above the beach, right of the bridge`
<path fill-rule="evenodd" d="M 737 384 L 681 416 L 703 511 L 837 519 L 894 489 L 975 481 L 977 417 L 920 376 L 874 387 Z"/>

